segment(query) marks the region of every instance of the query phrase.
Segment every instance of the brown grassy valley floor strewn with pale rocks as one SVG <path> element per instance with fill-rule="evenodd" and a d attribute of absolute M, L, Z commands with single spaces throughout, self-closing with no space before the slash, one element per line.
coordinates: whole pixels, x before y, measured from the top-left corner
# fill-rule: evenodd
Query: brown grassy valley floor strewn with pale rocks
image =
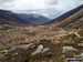
<path fill-rule="evenodd" d="M 33 45 L 29 46 L 30 43 Z M 64 62 L 65 56 L 79 56 L 81 53 L 83 27 L 62 29 L 0 24 L 1 62 Z"/>

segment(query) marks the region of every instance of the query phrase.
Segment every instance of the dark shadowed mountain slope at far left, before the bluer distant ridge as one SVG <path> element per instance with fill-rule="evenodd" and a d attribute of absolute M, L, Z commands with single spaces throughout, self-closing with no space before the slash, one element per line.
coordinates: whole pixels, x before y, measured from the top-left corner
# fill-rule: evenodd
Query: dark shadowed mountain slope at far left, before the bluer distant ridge
<path fill-rule="evenodd" d="M 17 17 L 13 12 L 8 10 L 0 10 L 0 20 L 7 20 L 9 22 L 29 23 Z"/>

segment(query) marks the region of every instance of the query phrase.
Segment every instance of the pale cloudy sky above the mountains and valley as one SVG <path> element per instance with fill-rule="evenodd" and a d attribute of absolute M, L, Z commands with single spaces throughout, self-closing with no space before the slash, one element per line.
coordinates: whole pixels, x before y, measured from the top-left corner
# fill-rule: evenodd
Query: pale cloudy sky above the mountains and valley
<path fill-rule="evenodd" d="M 83 4 L 83 0 L 0 0 L 0 9 L 17 13 L 37 13 L 54 19 Z"/>

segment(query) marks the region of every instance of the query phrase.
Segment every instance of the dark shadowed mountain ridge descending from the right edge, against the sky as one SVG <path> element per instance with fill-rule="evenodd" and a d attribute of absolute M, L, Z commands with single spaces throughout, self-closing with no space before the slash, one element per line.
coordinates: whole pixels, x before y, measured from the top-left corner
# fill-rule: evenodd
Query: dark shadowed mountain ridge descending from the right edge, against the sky
<path fill-rule="evenodd" d="M 60 22 L 62 20 L 65 20 L 66 18 L 73 16 L 74 13 L 79 12 L 82 9 L 83 9 L 83 4 L 77 7 L 77 8 L 75 8 L 75 9 L 73 9 L 73 10 L 71 10 L 71 11 L 65 12 L 64 14 L 58 17 L 56 19 L 51 20 L 48 23 L 54 23 L 54 22 Z"/>

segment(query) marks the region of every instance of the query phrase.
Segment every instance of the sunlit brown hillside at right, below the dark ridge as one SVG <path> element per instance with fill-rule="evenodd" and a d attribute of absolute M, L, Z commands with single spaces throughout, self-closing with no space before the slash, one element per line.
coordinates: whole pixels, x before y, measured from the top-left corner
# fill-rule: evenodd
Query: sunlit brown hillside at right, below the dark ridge
<path fill-rule="evenodd" d="M 68 19 L 58 23 L 58 27 L 62 28 L 77 28 L 83 24 L 83 9 L 79 12 L 74 13 L 73 16 L 69 17 Z"/>

